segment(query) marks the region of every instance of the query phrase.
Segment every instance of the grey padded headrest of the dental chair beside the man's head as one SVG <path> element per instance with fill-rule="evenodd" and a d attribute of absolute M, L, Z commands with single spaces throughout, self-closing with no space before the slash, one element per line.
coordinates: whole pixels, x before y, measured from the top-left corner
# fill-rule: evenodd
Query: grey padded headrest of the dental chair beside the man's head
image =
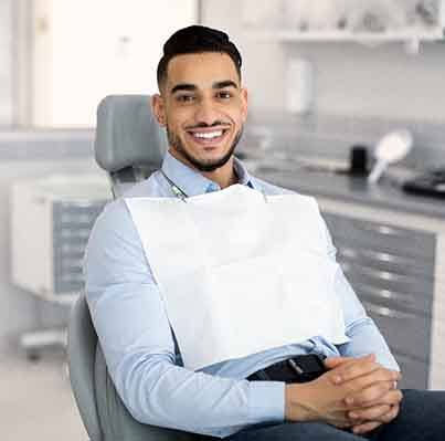
<path fill-rule="evenodd" d="M 109 95 L 97 108 L 97 164 L 114 172 L 127 167 L 160 166 L 167 139 L 148 95 Z"/>

